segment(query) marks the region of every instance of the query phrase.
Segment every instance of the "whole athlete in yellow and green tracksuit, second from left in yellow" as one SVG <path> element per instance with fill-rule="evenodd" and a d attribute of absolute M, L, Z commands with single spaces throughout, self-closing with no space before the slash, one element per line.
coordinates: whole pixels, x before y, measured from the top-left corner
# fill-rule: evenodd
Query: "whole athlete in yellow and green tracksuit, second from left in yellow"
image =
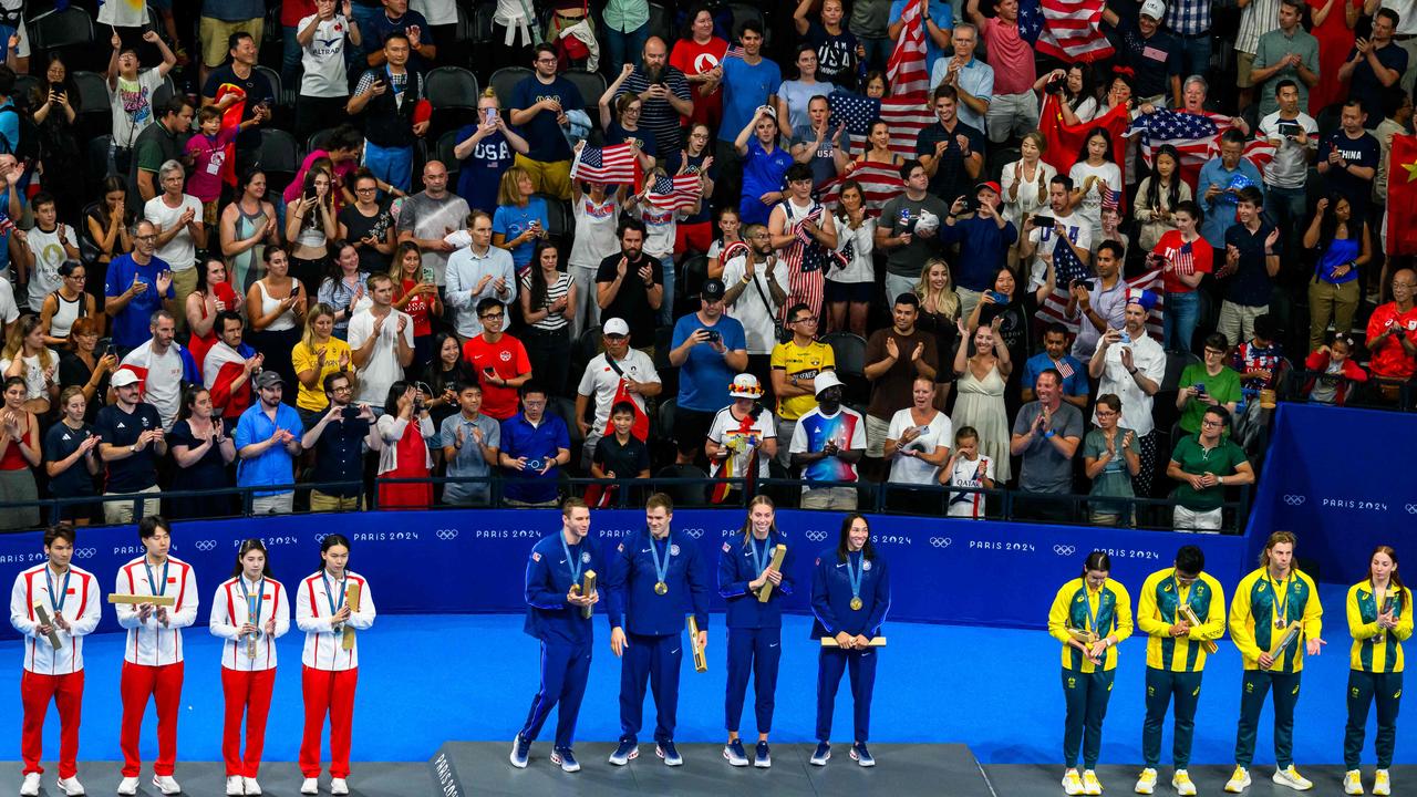
<path fill-rule="evenodd" d="M 1206 642 L 1226 632 L 1226 593 L 1209 573 L 1200 547 L 1185 545 L 1176 552 L 1173 567 L 1158 570 L 1142 584 L 1136 608 L 1136 627 L 1146 634 L 1146 720 L 1142 723 L 1142 757 L 1146 767 L 1136 780 L 1138 794 L 1156 788 L 1161 763 L 1161 732 L 1166 706 L 1175 698 L 1176 733 L 1172 759 L 1176 774 L 1170 784 L 1179 794 L 1195 794 L 1196 784 L 1186 771 L 1190 742 L 1196 729 L 1196 703 L 1200 702 L 1200 676 L 1206 667 Z M 1189 604 L 1199 620 L 1190 625 L 1179 613 Z"/>

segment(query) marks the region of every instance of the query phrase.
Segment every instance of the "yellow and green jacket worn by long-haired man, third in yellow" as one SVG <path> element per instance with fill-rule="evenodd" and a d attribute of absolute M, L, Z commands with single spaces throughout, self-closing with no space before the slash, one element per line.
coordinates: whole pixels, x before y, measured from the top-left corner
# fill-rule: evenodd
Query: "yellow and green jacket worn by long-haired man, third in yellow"
<path fill-rule="evenodd" d="M 1270 672 L 1299 672 L 1304 669 L 1305 641 L 1319 637 L 1323 630 L 1323 607 L 1319 606 L 1314 579 L 1302 570 L 1291 569 L 1282 581 L 1271 580 L 1268 572 L 1268 567 L 1260 567 L 1240 579 L 1230 604 L 1230 640 L 1244 657 L 1244 668 L 1260 669 L 1260 654 L 1268 652 L 1284 635 L 1282 628 L 1275 628 L 1275 618 L 1284 625 L 1298 620 L 1302 624 L 1298 638 L 1278 652 Z M 1282 610 L 1277 606 L 1275 590 Z"/>

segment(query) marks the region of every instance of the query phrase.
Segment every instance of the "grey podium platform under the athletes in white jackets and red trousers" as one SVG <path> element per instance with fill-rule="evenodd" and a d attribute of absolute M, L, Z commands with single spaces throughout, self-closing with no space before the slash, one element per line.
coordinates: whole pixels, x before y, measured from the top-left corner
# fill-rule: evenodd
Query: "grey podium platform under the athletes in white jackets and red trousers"
<path fill-rule="evenodd" d="M 24 766 L 20 762 L 0 762 L 0 794 L 14 794 L 20 790 Z M 79 781 L 92 796 L 113 794 L 118 783 L 123 780 L 122 764 L 119 762 L 79 762 Z M 383 762 L 354 762 L 349 777 L 350 794 L 353 797 L 429 797 L 438 794 L 435 781 L 428 776 L 425 763 L 383 763 Z M 44 763 L 44 797 L 58 797 L 61 793 L 54 787 L 58 777 L 55 764 Z M 177 771 L 173 773 L 181 784 L 183 794 L 188 797 L 222 797 L 227 793 L 225 764 L 220 762 L 177 762 Z M 293 762 L 272 762 L 261 767 L 261 790 L 268 797 L 299 797 L 300 769 Z M 145 797 L 157 797 L 160 793 L 153 787 L 152 763 L 143 766 L 139 776 L 137 793 Z M 320 794 L 329 797 L 330 776 L 320 776 Z"/>

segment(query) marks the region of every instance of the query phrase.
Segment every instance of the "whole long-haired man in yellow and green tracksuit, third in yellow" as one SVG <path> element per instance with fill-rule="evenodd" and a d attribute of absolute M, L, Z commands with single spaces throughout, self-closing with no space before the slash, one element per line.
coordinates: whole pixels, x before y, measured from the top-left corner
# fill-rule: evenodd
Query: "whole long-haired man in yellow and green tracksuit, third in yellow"
<path fill-rule="evenodd" d="M 1294 706 L 1299 701 L 1299 676 L 1304 657 L 1318 655 L 1325 644 L 1323 607 L 1319 606 L 1314 579 L 1294 566 L 1295 537 L 1274 532 L 1260 554 L 1260 567 L 1240 580 L 1230 603 L 1230 640 L 1244 657 L 1244 681 L 1240 695 L 1240 726 L 1236 729 L 1236 771 L 1226 791 L 1240 793 L 1250 786 L 1250 762 L 1254 759 L 1255 726 L 1264 698 L 1274 689 L 1274 781 L 1295 790 L 1314 784 L 1294 767 Z M 1282 650 L 1275 650 L 1291 623 L 1299 634 Z"/>

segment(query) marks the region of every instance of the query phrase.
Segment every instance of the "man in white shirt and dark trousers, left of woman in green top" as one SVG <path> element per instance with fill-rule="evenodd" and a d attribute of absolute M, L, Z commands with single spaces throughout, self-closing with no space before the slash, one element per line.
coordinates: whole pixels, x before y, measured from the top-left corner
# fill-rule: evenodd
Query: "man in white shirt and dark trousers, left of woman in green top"
<path fill-rule="evenodd" d="M 1121 425 L 1135 433 L 1141 447 L 1141 472 L 1136 475 L 1136 495 L 1151 496 L 1156 472 L 1156 421 L 1153 396 L 1166 376 L 1166 352 L 1146 333 L 1146 313 L 1156 305 L 1151 291 L 1127 292 L 1125 326 L 1108 329 L 1098 340 L 1087 364 L 1098 380 L 1098 394 L 1112 394 L 1121 401 Z"/>

